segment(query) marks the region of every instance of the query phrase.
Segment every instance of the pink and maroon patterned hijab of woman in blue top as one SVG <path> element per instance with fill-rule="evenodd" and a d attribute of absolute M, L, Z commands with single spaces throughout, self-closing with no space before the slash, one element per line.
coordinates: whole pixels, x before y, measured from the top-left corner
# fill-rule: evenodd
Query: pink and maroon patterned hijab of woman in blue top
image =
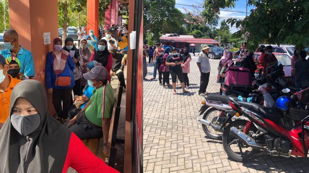
<path fill-rule="evenodd" d="M 55 45 L 58 43 L 58 42 L 61 42 L 62 44 L 62 40 L 61 38 L 55 38 L 54 41 L 53 41 L 53 57 L 54 57 L 54 71 L 55 71 L 55 74 L 58 76 L 60 73 L 62 73 L 63 69 L 66 67 L 66 60 L 69 56 L 69 52 L 61 49 L 60 52 L 56 52 L 55 50 Z M 58 61 L 57 59 L 60 59 L 60 61 Z"/>

